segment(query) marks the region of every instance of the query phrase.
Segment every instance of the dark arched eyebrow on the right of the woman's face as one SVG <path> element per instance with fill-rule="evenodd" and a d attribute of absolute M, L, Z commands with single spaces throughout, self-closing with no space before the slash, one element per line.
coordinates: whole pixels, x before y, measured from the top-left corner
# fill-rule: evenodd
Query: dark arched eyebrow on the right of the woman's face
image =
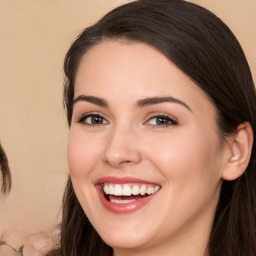
<path fill-rule="evenodd" d="M 176 99 L 174 97 L 171 97 L 171 96 L 150 97 L 150 98 L 141 99 L 141 100 L 137 101 L 137 105 L 139 107 L 145 107 L 145 106 L 149 106 L 149 105 L 156 105 L 156 104 L 166 103 L 166 102 L 180 104 L 180 105 L 184 106 L 185 108 L 187 108 L 189 111 L 192 112 L 191 108 L 185 102 L 183 102 L 179 99 Z"/>

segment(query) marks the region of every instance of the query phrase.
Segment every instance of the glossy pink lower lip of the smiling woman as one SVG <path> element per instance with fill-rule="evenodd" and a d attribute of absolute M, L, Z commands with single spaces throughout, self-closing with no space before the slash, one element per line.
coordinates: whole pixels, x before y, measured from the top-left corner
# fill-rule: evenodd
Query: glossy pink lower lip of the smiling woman
<path fill-rule="evenodd" d="M 127 204 L 117 204 L 117 203 L 112 203 L 105 198 L 101 186 L 97 185 L 96 189 L 99 194 L 99 198 L 100 198 L 102 205 L 110 212 L 113 212 L 116 214 L 133 213 L 133 212 L 139 210 L 140 208 L 142 208 L 143 206 L 147 205 L 152 200 L 152 198 L 158 193 L 158 191 L 157 191 L 156 193 L 154 193 L 148 197 L 145 197 L 141 200 L 136 200 L 136 201 L 133 201 L 133 202 L 130 202 Z"/>

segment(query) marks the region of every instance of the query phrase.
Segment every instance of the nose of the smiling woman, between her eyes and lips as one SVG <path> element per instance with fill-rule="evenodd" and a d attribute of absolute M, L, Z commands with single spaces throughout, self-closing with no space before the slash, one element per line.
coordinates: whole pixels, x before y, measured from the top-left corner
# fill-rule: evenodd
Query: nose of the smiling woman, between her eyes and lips
<path fill-rule="evenodd" d="M 141 152 L 136 143 L 135 131 L 129 127 L 116 127 L 108 135 L 104 162 L 114 168 L 134 165 L 141 161 Z"/>

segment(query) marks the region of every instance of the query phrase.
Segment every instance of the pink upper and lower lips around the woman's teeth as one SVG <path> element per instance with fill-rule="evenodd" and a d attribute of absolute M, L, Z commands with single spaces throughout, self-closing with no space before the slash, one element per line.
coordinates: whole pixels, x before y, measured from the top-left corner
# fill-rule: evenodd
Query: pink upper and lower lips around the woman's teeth
<path fill-rule="evenodd" d="M 154 197 L 155 195 L 159 192 L 157 191 L 156 193 L 147 196 L 141 200 L 133 201 L 131 203 L 127 204 L 117 204 L 117 203 L 112 203 L 108 201 L 105 196 L 104 192 L 102 190 L 102 184 L 103 183 L 113 183 L 113 184 L 128 184 L 128 183 L 143 183 L 143 184 L 155 184 L 153 182 L 133 178 L 133 177 L 103 177 L 100 178 L 96 184 L 96 190 L 98 192 L 100 201 L 102 205 L 109 211 L 115 213 L 115 214 L 128 214 L 128 213 L 133 213 L 139 209 L 141 209 L 143 206 L 147 205 Z M 157 185 L 157 184 L 156 184 Z"/>

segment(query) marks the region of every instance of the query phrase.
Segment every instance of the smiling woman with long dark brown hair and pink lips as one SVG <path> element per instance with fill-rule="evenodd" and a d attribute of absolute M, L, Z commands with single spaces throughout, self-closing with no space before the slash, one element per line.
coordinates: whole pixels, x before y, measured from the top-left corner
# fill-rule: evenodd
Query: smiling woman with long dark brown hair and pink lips
<path fill-rule="evenodd" d="M 223 22 L 140 0 L 85 29 L 64 64 L 70 178 L 49 255 L 256 254 L 256 97 Z"/>

